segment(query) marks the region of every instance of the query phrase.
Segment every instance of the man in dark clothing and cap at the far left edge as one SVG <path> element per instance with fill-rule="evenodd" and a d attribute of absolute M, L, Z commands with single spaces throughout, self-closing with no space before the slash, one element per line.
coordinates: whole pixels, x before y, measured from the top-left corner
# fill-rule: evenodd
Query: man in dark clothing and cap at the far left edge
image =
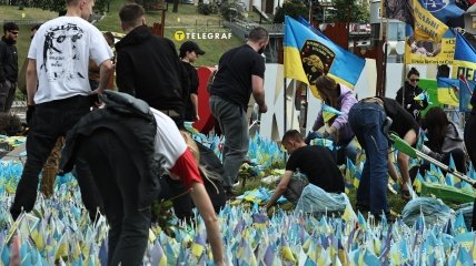
<path fill-rule="evenodd" d="M 14 100 L 18 80 L 17 43 L 18 25 L 14 22 L 3 24 L 0 41 L 0 112 L 10 112 Z"/>

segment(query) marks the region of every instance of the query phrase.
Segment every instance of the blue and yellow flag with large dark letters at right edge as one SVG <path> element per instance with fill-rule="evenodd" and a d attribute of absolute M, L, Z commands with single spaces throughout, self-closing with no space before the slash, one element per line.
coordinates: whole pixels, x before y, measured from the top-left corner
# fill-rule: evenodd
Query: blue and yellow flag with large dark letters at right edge
<path fill-rule="evenodd" d="M 457 33 L 453 78 L 459 79 L 462 75 L 468 81 L 476 81 L 476 51 L 462 33 Z"/>

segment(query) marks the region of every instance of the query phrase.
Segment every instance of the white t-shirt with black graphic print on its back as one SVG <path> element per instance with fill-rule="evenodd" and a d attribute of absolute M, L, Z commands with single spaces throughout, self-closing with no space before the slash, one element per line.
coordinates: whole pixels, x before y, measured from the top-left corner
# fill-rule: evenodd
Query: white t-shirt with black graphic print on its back
<path fill-rule="evenodd" d="M 28 58 L 37 60 L 39 83 L 34 103 L 88 95 L 89 59 L 99 65 L 112 57 L 102 33 L 88 21 L 60 17 L 46 22 L 28 51 Z"/>

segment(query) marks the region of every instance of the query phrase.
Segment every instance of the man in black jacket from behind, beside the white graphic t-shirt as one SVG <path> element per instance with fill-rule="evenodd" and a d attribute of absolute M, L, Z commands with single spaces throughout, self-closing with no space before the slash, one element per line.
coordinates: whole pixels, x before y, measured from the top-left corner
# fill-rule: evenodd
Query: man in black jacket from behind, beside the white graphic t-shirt
<path fill-rule="evenodd" d="M 152 35 L 137 3 L 122 7 L 119 17 L 127 33 L 116 44 L 119 91 L 146 101 L 184 127 L 188 79 L 173 42 Z"/>

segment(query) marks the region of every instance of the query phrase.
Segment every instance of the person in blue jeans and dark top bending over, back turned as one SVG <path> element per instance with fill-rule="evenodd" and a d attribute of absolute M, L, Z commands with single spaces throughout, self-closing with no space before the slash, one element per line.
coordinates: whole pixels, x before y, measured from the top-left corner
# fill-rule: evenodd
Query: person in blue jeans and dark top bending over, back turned
<path fill-rule="evenodd" d="M 359 211 L 370 211 L 376 217 L 385 213 L 388 217 L 387 204 L 388 174 L 394 181 L 398 180 L 391 160 L 391 151 L 388 152 L 388 140 L 384 132 L 393 121 L 390 131 L 396 132 L 409 145 L 414 145 L 419 132 L 418 124 L 413 116 L 405 111 L 397 101 L 388 98 L 367 98 L 354 104 L 349 112 L 349 123 L 358 142 L 365 150 L 366 161 L 357 190 L 357 207 Z M 401 193 L 409 197 L 408 184 L 408 156 L 398 153 L 398 166 L 401 173 Z M 388 170 L 388 171 L 387 171 Z"/>

